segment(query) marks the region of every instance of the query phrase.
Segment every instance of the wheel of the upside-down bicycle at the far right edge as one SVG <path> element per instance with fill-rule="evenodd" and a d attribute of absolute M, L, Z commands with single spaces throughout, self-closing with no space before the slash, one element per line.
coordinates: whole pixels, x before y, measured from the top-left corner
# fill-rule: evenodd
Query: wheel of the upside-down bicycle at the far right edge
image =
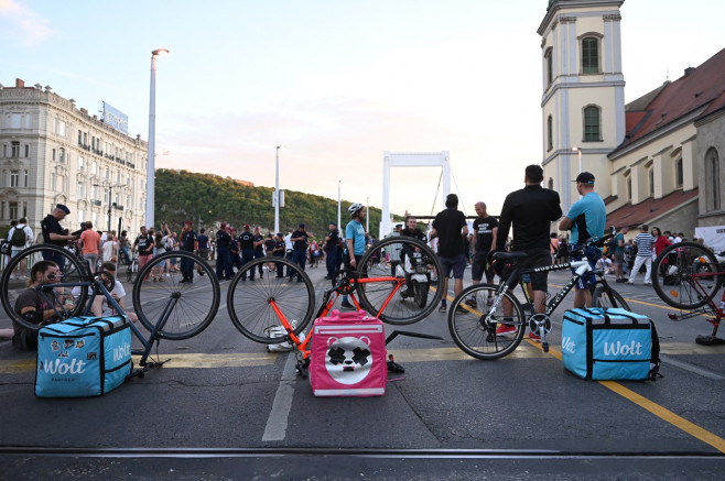
<path fill-rule="evenodd" d="M 707 304 L 717 293 L 723 274 L 710 249 L 680 242 L 667 247 L 653 262 L 654 292 L 672 307 L 696 309 Z"/>

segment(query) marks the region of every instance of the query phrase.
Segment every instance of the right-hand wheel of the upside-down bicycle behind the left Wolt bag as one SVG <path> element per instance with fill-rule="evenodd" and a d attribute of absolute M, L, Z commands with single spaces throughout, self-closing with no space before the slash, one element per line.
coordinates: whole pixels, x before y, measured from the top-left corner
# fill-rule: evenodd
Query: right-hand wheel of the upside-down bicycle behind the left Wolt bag
<path fill-rule="evenodd" d="M 171 273 L 173 263 L 191 273 Z M 133 308 L 149 330 L 165 319 L 159 335 L 165 339 L 188 339 L 202 332 L 219 309 L 219 283 L 202 258 L 185 251 L 165 252 L 143 266 L 133 284 Z"/>

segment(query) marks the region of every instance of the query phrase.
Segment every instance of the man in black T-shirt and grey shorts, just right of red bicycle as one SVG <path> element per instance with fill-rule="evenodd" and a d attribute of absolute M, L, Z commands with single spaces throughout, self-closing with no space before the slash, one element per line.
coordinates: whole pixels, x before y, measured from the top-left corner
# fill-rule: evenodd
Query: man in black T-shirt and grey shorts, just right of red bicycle
<path fill-rule="evenodd" d="M 445 210 L 440 211 L 433 219 L 431 240 L 439 239 L 439 258 L 443 267 L 443 297 L 440 313 L 445 313 L 446 296 L 448 295 L 448 276 L 453 271 L 453 292 L 457 296 L 463 291 L 463 273 L 468 261 L 464 254 L 463 242 L 468 238 L 466 216 L 457 209 L 458 196 L 448 194 L 445 198 Z"/>

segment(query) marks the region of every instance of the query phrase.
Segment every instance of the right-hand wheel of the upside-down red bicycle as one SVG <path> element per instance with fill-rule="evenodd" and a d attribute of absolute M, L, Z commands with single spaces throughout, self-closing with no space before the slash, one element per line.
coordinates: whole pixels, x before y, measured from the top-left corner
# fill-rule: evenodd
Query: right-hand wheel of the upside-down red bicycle
<path fill-rule="evenodd" d="M 411 255 L 415 255 L 413 263 Z M 357 271 L 360 276 L 357 288 L 360 304 L 368 314 L 386 324 L 402 326 L 418 323 L 435 309 L 445 294 L 443 276 L 439 275 L 442 267 L 437 255 L 413 238 L 393 237 L 376 243 L 365 253 Z M 396 293 L 397 282 L 391 277 L 403 281 Z M 419 284 L 418 297 L 413 282 Z M 428 292 L 422 284 L 428 284 Z"/>

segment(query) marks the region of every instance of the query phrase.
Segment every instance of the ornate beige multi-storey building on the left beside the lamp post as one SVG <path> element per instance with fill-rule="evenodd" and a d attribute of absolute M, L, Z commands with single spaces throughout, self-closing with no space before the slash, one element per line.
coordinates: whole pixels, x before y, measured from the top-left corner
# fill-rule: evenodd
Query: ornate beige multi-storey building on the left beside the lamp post
<path fill-rule="evenodd" d="M 148 145 L 77 109 L 75 100 L 50 86 L 0 88 L 0 226 L 26 217 L 40 236 L 40 221 L 56 204 L 94 228 L 138 232 L 145 219 Z"/>

